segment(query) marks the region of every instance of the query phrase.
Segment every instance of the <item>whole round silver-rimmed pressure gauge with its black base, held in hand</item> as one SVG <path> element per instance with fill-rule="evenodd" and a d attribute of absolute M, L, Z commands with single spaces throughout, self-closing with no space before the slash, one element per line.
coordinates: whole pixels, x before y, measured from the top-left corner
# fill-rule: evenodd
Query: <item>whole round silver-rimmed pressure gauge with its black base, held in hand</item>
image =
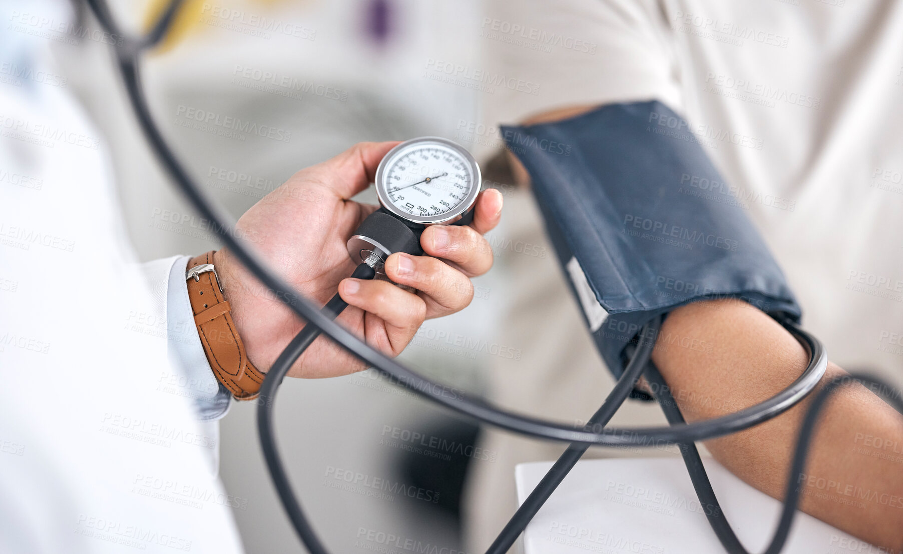
<path fill-rule="evenodd" d="M 382 206 L 348 242 L 355 263 L 385 262 L 389 254 L 420 255 L 429 225 L 469 223 L 482 179 L 476 160 L 461 145 L 426 136 L 398 144 L 379 162 L 377 196 Z"/>

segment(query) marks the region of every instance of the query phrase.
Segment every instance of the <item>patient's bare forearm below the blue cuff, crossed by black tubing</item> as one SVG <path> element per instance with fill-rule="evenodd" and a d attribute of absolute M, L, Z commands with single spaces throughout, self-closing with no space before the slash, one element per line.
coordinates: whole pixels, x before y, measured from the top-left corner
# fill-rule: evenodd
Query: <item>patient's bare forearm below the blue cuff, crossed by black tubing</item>
<path fill-rule="evenodd" d="M 683 347 L 679 345 L 690 345 Z M 787 330 L 739 300 L 697 302 L 665 321 L 653 360 L 686 420 L 703 420 L 767 399 L 796 379 L 807 355 Z M 842 369 L 829 364 L 823 383 Z M 735 475 L 775 498 L 787 482 L 808 401 L 741 433 L 706 442 Z M 903 417 L 858 384 L 825 406 L 806 462 L 801 509 L 894 549 L 903 548 Z M 898 449 L 898 448 L 897 448 Z M 882 454 L 889 454 L 883 456 Z"/>

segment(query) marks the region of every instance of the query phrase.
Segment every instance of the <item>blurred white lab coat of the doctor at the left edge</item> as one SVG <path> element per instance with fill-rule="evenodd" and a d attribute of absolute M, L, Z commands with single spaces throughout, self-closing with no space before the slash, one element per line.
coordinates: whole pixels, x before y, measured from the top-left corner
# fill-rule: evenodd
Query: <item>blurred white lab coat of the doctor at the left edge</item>
<path fill-rule="evenodd" d="M 239 552 L 170 359 L 176 260 L 136 262 L 98 131 L 47 82 L 67 6 L 3 6 L 0 551 Z"/>

